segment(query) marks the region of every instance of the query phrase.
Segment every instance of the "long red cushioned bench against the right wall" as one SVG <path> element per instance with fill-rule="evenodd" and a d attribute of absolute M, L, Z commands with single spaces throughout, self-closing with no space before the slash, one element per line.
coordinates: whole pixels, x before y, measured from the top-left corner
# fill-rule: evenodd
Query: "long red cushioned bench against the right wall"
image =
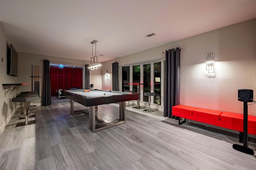
<path fill-rule="evenodd" d="M 239 131 L 239 142 L 242 143 L 243 114 L 177 105 L 172 107 L 172 115 L 179 117 L 179 125 L 190 119 Z M 184 118 L 184 121 L 180 122 L 180 117 Z M 248 115 L 248 133 L 256 135 L 256 117 L 252 115 Z"/>

